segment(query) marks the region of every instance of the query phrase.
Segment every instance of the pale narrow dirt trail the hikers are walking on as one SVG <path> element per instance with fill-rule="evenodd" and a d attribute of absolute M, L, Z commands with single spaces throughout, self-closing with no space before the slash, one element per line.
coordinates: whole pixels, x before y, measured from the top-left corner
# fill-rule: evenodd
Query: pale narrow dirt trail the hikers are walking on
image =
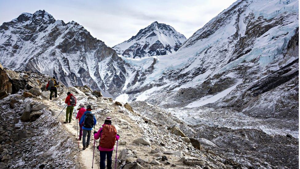
<path fill-rule="evenodd" d="M 39 100 L 41 101 L 41 100 Z M 62 105 L 57 105 L 55 102 L 53 101 L 49 101 L 49 100 L 42 100 L 47 106 L 49 106 L 50 109 L 52 109 L 53 111 L 55 111 L 55 114 L 58 115 L 61 110 L 65 107 L 65 104 Z M 76 110 L 77 112 L 77 110 Z M 76 139 L 77 141 L 77 122 L 76 122 L 76 113 L 73 112 L 72 115 L 72 122 L 71 123 L 63 123 L 65 121 L 65 109 L 64 111 L 61 112 L 61 114 L 59 115 L 59 121 L 63 124 L 63 126 L 65 127 L 65 129 L 67 131 L 69 131 L 70 133 L 73 134 L 74 139 Z M 79 135 L 79 126 L 78 126 L 78 135 Z M 78 143 L 78 142 L 77 142 Z M 93 163 L 93 143 L 94 143 L 94 138 L 93 138 L 93 133 L 91 136 L 91 140 L 90 140 L 90 144 L 89 147 L 86 148 L 85 150 L 82 150 L 82 141 L 79 142 L 79 156 L 81 157 L 83 166 L 82 168 L 86 168 L 86 169 L 90 169 L 92 168 L 92 163 Z M 93 169 L 98 169 L 99 167 L 99 151 L 97 151 L 96 149 L 97 143 L 95 144 L 95 156 L 94 156 L 94 165 L 93 165 Z"/>

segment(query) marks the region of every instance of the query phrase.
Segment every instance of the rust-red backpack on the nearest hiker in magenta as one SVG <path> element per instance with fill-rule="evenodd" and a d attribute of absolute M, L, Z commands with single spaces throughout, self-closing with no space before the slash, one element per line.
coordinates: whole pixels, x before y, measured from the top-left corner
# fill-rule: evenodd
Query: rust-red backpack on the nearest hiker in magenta
<path fill-rule="evenodd" d="M 113 148 L 116 143 L 117 130 L 113 125 L 105 124 L 102 128 L 102 135 L 99 146 L 102 148 Z"/>

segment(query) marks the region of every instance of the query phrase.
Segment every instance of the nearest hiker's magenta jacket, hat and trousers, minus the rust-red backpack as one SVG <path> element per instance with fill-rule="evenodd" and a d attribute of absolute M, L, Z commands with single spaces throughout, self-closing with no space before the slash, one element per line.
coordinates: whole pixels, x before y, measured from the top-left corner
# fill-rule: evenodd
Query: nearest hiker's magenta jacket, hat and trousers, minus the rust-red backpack
<path fill-rule="evenodd" d="M 105 125 L 112 125 L 112 119 L 110 117 L 107 117 L 104 121 L 104 124 L 102 127 Z M 97 140 L 99 138 L 102 138 L 102 127 L 98 131 L 94 131 L 94 138 Z M 116 140 L 120 139 L 120 135 L 116 135 Z M 105 158 L 107 156 L 107 169 L 112 168 L 112 156 L 113 156 L 113 148 L 104 148 L 101 147 L 100 145 L 97 147 L 98 150 L 100 151 L 100 169 L 105 169 Z"/>

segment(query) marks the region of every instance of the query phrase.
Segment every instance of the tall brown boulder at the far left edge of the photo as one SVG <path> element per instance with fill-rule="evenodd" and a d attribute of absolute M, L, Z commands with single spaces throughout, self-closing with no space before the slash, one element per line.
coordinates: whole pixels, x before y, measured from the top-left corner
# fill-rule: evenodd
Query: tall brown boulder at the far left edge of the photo
<path fill-rule="evenodd" d="M 6 70 L 4 70 L 0 63 L 0 99 L 8 96 L 8 93 L 13 93 L 12 83 Z"/>

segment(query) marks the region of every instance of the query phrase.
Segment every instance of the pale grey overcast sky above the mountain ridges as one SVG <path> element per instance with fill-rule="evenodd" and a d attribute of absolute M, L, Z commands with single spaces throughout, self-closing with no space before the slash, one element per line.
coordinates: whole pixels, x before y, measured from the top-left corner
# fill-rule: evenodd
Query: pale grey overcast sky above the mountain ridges
<path fill-rule="evenodd" d="M 152 22 L 165 23 L 189 38 L 236 0 L 0 0 L 0 24 L 23 12 L 45 10 L 57 20 L 75 21 L 114 46 Z"/>

